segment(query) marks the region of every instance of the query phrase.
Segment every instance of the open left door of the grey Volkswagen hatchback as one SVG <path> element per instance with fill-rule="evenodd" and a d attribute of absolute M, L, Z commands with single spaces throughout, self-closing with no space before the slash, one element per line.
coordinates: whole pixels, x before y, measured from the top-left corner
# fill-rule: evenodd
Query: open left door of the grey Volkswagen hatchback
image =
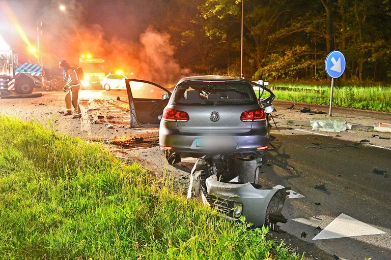
<path fill-rule="evenodd" d="M 171 92 L 153 82 L 125 79 L 132 127 L 159 126 L 163 109 L 169 102 Z"/>

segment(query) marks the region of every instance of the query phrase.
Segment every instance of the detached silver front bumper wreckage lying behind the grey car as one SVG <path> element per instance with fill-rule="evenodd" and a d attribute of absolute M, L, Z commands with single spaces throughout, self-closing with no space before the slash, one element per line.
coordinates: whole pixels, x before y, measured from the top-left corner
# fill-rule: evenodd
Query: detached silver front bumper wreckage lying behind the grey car
<path fill-rule="evenodd" d="M 191 171 L 187 197 L 201 195 L 205 204 L 229 219 L 245 216 L 255 227 L 268 225 L 277 230 L 277 222 L 287 221 L 281 211 L 289 188 L 257 184 L 261 163 L 232 153 L 203 156 Z"/>

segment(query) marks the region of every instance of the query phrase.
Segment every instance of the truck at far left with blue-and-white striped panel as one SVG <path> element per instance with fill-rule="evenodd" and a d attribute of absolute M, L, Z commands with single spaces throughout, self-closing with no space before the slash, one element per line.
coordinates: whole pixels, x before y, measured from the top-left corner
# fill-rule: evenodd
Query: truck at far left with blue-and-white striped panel
<path fill-rule="evenodd" d="M 43 86 L 44 70 L 41 64 L 18 62 L 13 50 L 0 52 L 0 91 L 30 94 L 34 88 Z"/>

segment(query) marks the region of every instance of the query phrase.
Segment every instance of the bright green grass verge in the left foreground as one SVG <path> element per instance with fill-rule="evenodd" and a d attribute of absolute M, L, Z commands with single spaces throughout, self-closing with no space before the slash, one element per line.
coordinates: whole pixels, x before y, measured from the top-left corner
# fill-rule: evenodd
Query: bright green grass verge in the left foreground
<path fill-rule="evenodd" d="M 1 259 L 300 259 L 101 144 L 0 115 Z"/>

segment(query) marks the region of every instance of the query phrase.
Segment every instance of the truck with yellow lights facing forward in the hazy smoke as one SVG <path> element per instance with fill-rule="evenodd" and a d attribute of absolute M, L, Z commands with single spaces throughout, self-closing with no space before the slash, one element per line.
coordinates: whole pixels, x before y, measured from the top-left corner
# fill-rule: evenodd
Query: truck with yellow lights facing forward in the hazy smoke
<path fill-rule="evenodd" d="M 79 66 L 83 69 L 84 79 L 81 80 L 83 88 L 101 88 L 100 81 L 106 76 L 104 72 L 104 59 L 93 57 L 91 54 L 83 54 L 79 58 Z"/>

